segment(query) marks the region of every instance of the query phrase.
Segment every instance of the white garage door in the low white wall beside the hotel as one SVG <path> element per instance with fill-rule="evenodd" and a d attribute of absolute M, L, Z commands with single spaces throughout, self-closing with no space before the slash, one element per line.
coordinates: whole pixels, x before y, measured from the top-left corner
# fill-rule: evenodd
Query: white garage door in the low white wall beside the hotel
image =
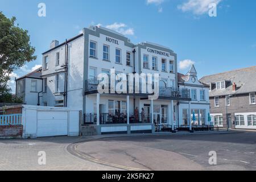
<path fill-rule="evenodd" d="M 68 135 L 68 113 L 38 111 L 38 137 Z"/>

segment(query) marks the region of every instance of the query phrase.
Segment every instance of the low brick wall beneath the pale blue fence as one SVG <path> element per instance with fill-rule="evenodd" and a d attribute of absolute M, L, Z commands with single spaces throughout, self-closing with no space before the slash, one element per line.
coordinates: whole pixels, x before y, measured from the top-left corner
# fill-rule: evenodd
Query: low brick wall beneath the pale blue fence
<path fill-rule="evenodd" d="M 22 137 L 23 126 L 0 126 L 0 137 Z"/>

